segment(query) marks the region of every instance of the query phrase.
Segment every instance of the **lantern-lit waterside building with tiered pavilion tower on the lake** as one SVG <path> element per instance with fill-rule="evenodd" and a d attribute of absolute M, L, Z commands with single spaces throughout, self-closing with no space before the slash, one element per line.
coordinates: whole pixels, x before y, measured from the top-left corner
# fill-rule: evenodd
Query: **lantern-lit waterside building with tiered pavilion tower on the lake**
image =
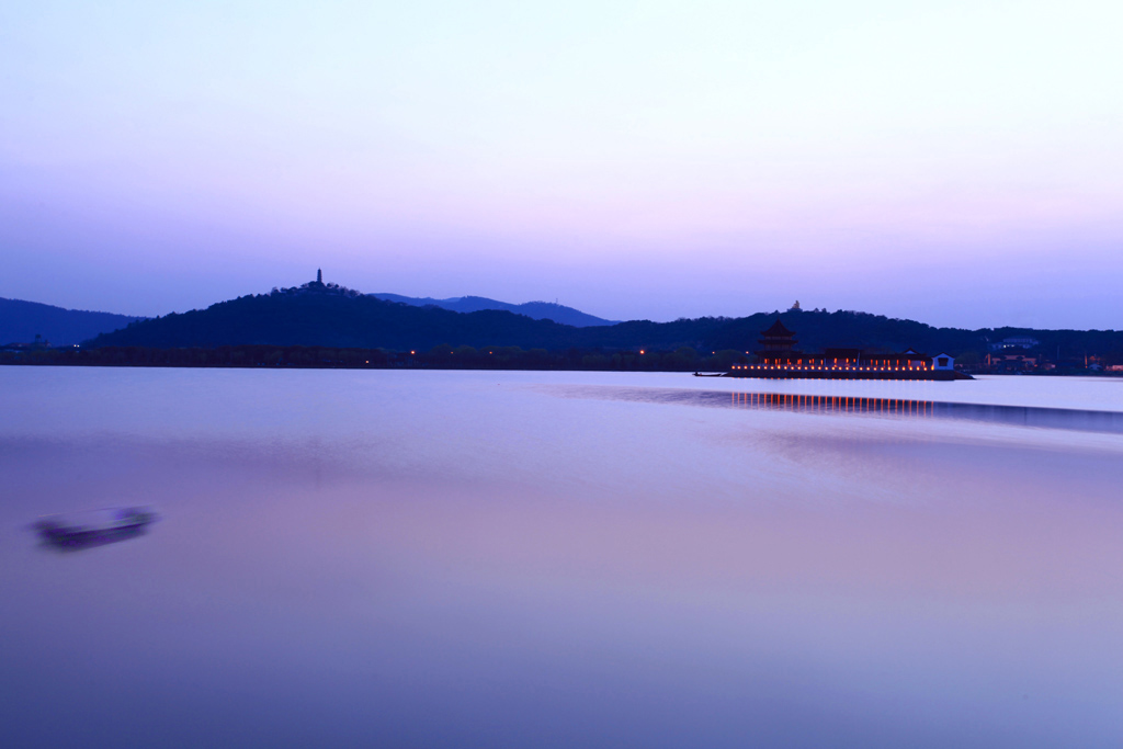
<path fill-rule="evenodd" d="M 757 341 L 756 364 L 734 364 L 727 377 L 772 380 L 971 380 L 956 369 L 948 354 L 929 356 L 912 349 L 870 354 L 859 348 L 828 348 L 822 354 L 796 349 L 795 334 L 776 320 Z"/>

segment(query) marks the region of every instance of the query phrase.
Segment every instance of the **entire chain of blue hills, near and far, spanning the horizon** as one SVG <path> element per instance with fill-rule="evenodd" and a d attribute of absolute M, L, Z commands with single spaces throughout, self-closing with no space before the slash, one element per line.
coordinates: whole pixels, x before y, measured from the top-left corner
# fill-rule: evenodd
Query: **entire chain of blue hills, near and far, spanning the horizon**
<path fill-rule="evenodd" d="M 495 305 L 502 309 L 494 309 Z M 563 323 L 555 318 L 572 322 Z M 800 348 L 807 351 L 825 347 L 882 351 L 914 348 L 929 354 L 974 353 L 982 357 L 997 341 L 1022 336 L 1030 337 L 1034 347 L 1050 357 L 1110 355 L 1123 360 L 1123 332 L 1111 330 L 964 330 L 864 312 L 800 310 L 758 312 L 743 318 L 613 323 L 546 302 L 505 304 L 481 296 L 430 300 L 363 294 L 319 281 L 152 319 L 0 299 L 0 344 L 29 342 L 42 335 L 56 346 L 84 341 L 94 347 L 207 348 L 261 344 L 399 351 L 428 350 L 442 345 L 548 350 L 690 347 L 709 354 L 722 349 L 755 350 L 760 331 L 777 318 L 796 331 Z"/>

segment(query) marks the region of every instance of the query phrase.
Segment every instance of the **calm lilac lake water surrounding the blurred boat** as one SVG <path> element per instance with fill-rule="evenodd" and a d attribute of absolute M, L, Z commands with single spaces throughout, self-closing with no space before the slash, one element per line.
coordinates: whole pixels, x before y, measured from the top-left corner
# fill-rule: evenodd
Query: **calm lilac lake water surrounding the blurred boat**
<path fill-rule="evenodd" d="M 1123 746 L 1121 413 L 1107 378 L 0 367 L 2 742 Z M 27 530 L 120 504 L 162 520 Z"/>

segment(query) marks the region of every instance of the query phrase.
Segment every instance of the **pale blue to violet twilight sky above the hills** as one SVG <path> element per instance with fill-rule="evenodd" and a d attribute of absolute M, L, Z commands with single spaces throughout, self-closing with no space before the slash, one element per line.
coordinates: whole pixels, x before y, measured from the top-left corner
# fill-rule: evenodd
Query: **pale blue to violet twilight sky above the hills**
<path fill-rule="evenodd" d="M 1123 328 L 1123 4 L 0 7 L 0 296 Z"/>

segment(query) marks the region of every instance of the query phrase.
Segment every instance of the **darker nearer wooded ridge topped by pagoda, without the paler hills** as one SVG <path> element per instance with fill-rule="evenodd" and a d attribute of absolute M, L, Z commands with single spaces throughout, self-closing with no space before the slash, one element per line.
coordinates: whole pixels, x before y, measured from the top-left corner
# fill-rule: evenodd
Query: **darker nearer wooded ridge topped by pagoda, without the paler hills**
<path fill-rule="evenodd" d="M 992 341 L 1028 335 L 1039 339 L 1050 353 L 1061 347 L 1063 356 L 1123 353 L 1123 332 L 1025 328 L 971 331 L 843 311 L 761 312 L 746 318 L 674 322 L 633 320 L 575 328 L 506 311 L 459 313 L 436 307 L 412 307 L 339 287 L 241 296 L 206 310 L 135 322 L 122 330 L 98 336 L 89 345 L 168 348 L 265 344 L 392 350 L 428 350 L 438 345 L 549 350 L 687 346 L 703 353 L 720 349 L 743 353 L 757 347 L 760 331 L 777 317 L 796 332 L 800 348 L 809 351 L 828 346 L 852 346 L 884 351 L 914 348 L 959 356 L 966 351 L 984 354 Z"/>

